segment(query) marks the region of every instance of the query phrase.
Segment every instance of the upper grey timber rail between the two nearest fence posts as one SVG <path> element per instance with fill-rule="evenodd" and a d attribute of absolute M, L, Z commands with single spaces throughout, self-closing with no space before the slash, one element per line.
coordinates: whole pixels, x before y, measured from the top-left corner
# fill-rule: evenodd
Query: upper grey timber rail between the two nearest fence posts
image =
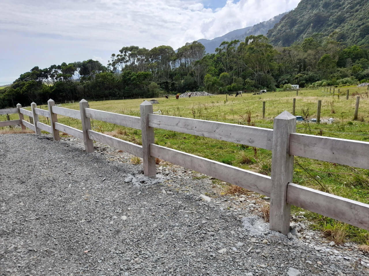
<path fill-rule="evenodd" d="M 149 126 L 272 150 L 272 129 L 156 114 Z"/>

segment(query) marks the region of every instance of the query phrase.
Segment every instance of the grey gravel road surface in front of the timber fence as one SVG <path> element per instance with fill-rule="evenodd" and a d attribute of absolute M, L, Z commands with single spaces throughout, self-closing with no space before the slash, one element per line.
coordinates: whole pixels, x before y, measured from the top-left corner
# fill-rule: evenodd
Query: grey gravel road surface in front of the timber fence
<path fill-rule="evenodd" d="M 168 163 L 146 178 L 129 154 L 68 139 L 0 135 L 0 275 L 369 275 L 355 244 L 300 222 L 269 232 L 259 195 Z"/>

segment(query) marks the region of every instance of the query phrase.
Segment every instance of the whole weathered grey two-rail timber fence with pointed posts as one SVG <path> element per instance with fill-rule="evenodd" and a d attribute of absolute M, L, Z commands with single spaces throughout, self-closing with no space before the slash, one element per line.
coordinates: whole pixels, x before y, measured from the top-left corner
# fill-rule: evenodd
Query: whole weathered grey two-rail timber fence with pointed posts
<path fill-rule="evenodd" d="M 331 195 L 292 183 L 294 156 L 307 157 L 337 164 L 369 169 L 369 142 L 337 139 L 296 133 L 296 117 L 287 111 L 274 119 L 274 129 L 232 123 L 181 118 L 153 113 L 152 104 L 140 105 L 140 117 L 89 108 L 79 102 L 80 110 L 55 106 L 48 101 L 48 110 L 33 102 L 31 111 L 21 107 L 2 109 L 1 114 L 18 113 L 18 120 L 0 122 L 0 127 L 21 125 L 41 134 L 52 134 L 59 141 L 59 131 L 83 139 L 85 150 L 93 152 L 93 141 L 107 144 L 143 159 L 144 174 L 156 176 L 155 157 L 201 172 L 222 181 L 270 197 L 270 230 L 287 234 L 290 230 L 291 205 L 369 230 L 369 205 Z M 33 118 L 33 123 L 24 120 Z M 39 122 L 38 116 L 50 119 L 50 125 Z M 80 119 L 82 130 L 58 123 L 57 115 Z M 90 119 L 132 127 L 142 132 L 142 146 L 91 129 Z M 272 151 L 272 173 L 268 175 L 244 170 L 207 158 L 169 149 L 154 143 L 154 128 L 173 130 L 197 136 L 244 144 Z"/>

